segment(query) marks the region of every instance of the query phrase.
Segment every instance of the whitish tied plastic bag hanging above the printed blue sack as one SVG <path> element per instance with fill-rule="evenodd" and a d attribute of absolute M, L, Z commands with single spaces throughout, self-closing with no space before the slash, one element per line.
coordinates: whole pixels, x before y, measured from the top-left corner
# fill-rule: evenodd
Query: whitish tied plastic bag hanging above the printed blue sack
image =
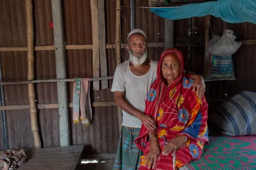
<path fill-rule="evenodd" d="M 239 49 L 241 42 L 236 42 L 237 38 L 233 35 L 232 30 L 226 29 L 225 33 L 218 39 L 218 35 L 215 37 L 213 44 L 209 44 L 209 52 L 215 56 L 230 56 Z"/>

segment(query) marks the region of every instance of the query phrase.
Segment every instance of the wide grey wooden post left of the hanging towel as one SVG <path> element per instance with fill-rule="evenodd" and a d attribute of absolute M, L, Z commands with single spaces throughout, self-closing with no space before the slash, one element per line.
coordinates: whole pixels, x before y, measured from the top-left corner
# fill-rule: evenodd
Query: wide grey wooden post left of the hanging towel
<path fill-rule="evenodd" d="M 66 79 L 66 55 L 64 45 L 62 0 L 52 0 L 52 19 L 55 47 L 56 77 Z M 57 82 L 60 146 L 69 146 L 69 106 L 66 82 Z"/>

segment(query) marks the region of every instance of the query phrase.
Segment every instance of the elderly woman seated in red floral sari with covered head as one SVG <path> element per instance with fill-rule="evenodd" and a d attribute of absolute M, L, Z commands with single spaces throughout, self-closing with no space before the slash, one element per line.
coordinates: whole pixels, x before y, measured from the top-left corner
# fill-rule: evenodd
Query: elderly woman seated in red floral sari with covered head
<path fill-rule="evenodd" d="M 142 125 L 135 140 L 144 153 L 140 170 L 180 168 L 200 158 L 208 142 L 208 105 L 204 96 L 192 91 L 193 79 L 183 69 L 180 51 L 162 52 L 145 107 L 145 114 L 156 119 L 157 129 Z"/>

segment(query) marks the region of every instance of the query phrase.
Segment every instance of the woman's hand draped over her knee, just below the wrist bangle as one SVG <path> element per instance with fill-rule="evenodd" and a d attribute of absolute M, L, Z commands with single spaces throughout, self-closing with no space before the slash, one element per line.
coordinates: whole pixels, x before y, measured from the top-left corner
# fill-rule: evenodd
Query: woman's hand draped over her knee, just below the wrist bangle
<path fill-rule="evenodd" d="M 151 166 L 154 169 L 156 166 L 156 159 L 158 158 L 160 152 L 161 150 L 158 144 L 158 140 L 156 140 L 156 138 L 153 137 L 152 139 L 150 139 L 149 153 L 143 159 L 143 161 L 147 160 L 144 166 L 147 166 L 147 164 L 149 163 L 148 169 L 150 169 Z"/>

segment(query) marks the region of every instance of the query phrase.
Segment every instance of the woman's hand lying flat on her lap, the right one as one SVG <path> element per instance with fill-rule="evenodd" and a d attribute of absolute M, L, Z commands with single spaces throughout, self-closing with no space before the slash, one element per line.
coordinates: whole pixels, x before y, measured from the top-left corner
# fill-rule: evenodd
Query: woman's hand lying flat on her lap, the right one
<path fill-rule="evenodd" d="M 178 151 L 178 149 L 186 142 L 186 137 L 183 135 L 172 138 L 168 144 L 165 145 L 162 154 L 167 156 L 173 151 L 172 156 Z"/>

